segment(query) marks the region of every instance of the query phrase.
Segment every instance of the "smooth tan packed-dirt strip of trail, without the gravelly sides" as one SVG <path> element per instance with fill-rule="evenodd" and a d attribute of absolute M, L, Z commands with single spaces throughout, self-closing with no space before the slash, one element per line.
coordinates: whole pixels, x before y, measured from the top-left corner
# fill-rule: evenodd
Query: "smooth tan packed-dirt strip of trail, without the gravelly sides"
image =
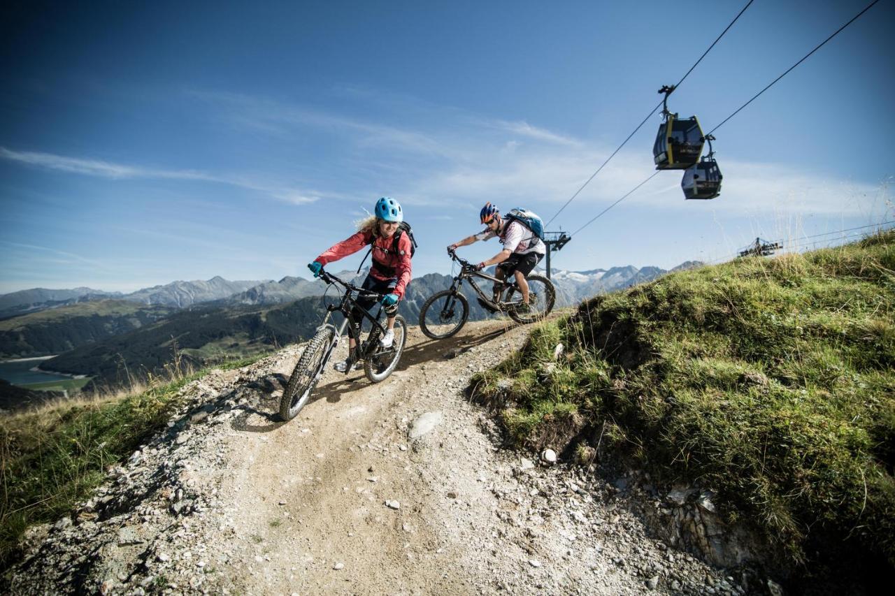
<path fill-rule="evenodd" d="M 477 592 L 475 578 L 458 573 L 468 544 L 445 532 L 442 509 L 456 498 L 447 497 L 447 486 L 439 490 L 447 478 L 431 466 L 431 451 L 445 450 L 445 430 L 454 437 L 457 416 L 477 420 L 456 396 L 468 377 L 456 374 L 458 366 L 475 353 L 497 360 L 524 336 L 500 323 L 432 342 L 413 328 L 387 381 L 329 370 L 294 421 L 265 425 L 263 414 L 248 416 L 251 434 L 234 437 L 238 473 L 221 489 L 231 498 L 225 509 L 234 528 L 226 575 L 242 577 L 236 584 L 250 593 Z M 473 351 L 445 360 L 458 347 Z M 428 408 L 442 422 L 413 442 L 408 425 Z M 470 448 L 463 457 L 479 462 L 482 454 Z"/>

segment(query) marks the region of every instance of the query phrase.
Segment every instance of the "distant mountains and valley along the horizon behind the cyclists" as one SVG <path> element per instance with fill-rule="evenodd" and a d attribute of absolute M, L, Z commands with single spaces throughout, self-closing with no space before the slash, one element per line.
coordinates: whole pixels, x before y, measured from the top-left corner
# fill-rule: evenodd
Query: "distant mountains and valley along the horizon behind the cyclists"
<path fill-rule="evenodd" d="M 700 264 L 687 262 L 678 268 Z M 557 286 L 557 305 L 565 306 L 650 281 L 666 272 L 632 266 L 588 271 L 554 269 L 552 280 Z M 360 283 L 365 274 L 343 271 L 337 275 Z M 400 312 L 416 324 L 422 303 L 446 289 L 451 280 L 437 273 L 415 277 Z M 85 293 L 76 295 L 81 291 Z M 173 360 L 175 351 L 182 362 L 201 366 L 306 339 L 320 325 L 324 300 L 334 300 L 332 290 L 329 298 L 323 298 L 326 291 L 327 285 L 320 280 L 302 277 L 256 282 L 214 277 L 173 282 L 132 294 L 90 288 L 4 294 L 0 306 L 5 312 L 25 310 L 0 320 L 0 358 L 58 354 L 42 362 L 41 369 L 88 375 L 94 379 L 94 387 L 115 386 L 129 378 L 157 373 Z M 467 296 L 470 319 L 490 316 L 471 292 L 467 291 Z"/>

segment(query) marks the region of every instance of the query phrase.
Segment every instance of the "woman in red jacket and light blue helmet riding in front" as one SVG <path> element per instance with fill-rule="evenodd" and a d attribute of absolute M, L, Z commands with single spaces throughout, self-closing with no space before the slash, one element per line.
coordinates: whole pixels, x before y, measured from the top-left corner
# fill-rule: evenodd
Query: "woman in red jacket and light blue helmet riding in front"
<path fill-rule="evenodd" d="M 366 246 L 372 248 L 372 266 L 367 278 L 363 280 L 362 288 L 379 294 L 386 294 L 382 299 L 387 315 L 386 334 L 379 340 L 382 347 L 391 347 L 395 341 L 395 315 L 397 305 L 404 296 L 405 288 L 411 278 L 411 242 L 407 234 L 398 236 L 397 248 L 395 248 L 395 234 L 398 233 L 398 224 L 404 221 L 404 211 L 401 205 L 391 197 L 382 197 L 376 201 L 373 209 L 374 215 L 363 219 L 357 225 L 357 232 L 348 236 L 323 252 L 308 268 L 314 277 L 320 276 L 320 269 L 334 260 L 347 257 L 349 254 L 360 251 Z M 361 309 L 370 310 L 375 301 L 362 296 L 357 299 L 357 306 L 351 312 L 351 324 L 354 335 L 361 335 L 361 323 L 363 315 Z M 356 342 L 354 337 L 348 341 L 348 358 L 345 362 L 337 362 L 335 369 L 339 372 L 348 370 L 357 361 L 354 353 Z"/>

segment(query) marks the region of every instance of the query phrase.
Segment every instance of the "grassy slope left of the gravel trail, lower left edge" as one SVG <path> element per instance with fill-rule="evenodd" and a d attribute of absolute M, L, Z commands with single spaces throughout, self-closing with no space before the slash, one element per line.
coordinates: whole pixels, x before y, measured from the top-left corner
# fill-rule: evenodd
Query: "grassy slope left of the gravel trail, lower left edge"
<path fill-rule="evenodd" d="M 234 369 L 260 357 L 227 362 Z M 181 403 L 180 390 L 207 370 L 106 399 L 64 400 L 0 419 L 0 569 L 19 556 L 34 524 L 53 522 L 101 484 L 107 467 L 123 462 L 164 428 Z"/>

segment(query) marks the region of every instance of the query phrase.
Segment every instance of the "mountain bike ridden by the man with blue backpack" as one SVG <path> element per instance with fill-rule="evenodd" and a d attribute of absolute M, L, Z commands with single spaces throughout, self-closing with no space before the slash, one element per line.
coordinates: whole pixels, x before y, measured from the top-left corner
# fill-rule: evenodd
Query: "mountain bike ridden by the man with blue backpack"
<path fill-rule="evenodd" d="M 460 264 L 460 275 L 454 277 L 450 288 L 434 294 L 422 304 L 420 310 L 420 328 L 422 333 L 432 339 L 445 339 L 459 331 L 469 318 L 469 302 L 461 294 L 460 287 L 464 282 L 472 286 L 478 294 L 478 302 L 490 312 L 506 312 L 517 323 L 533 323 L 543 319 L 553 310 L 556 302 L 556 288 L 547 277 L 530 275 L 528 279 L 528 308 L 522 302 L 522 291 L 516 284 L 516 277 L 509 275 L 507 279 L 492 277 L 468 260 L 456 256 L 455 251 L 447 251 L 450 258 Z M 475 283 L 475 278 L 488 280 L 497 284 L 499 293 L 495 302 L 493 295 L 486 294 Z"/>

